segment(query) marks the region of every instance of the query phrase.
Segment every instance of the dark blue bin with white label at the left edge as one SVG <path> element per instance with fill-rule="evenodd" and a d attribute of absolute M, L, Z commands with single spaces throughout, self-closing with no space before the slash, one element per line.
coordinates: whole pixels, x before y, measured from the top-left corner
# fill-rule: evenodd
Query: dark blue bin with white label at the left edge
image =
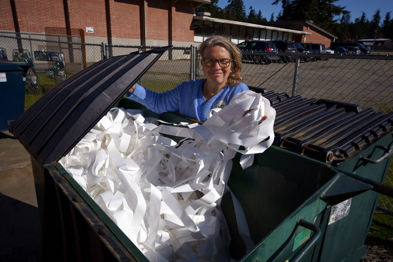
<path fill-rule="evenodd" d="M 7 130 L 8 121 L 24 112 L 25 82 L 29 65 L 0 60 L 0 130 Z"/>

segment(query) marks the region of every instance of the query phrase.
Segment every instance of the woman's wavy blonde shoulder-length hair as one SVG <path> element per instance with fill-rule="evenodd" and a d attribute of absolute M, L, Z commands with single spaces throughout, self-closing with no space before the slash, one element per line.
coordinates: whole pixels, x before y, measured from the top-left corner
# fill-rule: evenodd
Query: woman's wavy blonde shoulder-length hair
<path fill-rule="evenodd" d="M 240 71 L 242 69 L 242 55 L 239 48 L 237 48 L 237 46 L 235 46 L 235 44 L 233 44 L 227 37 L 213 35 L 203 41 L 198 47 L 198 53 L 202 59 L 204 58 L 203 52 L 208 46 L 222 46 L 228 50 L 233 62 L 231 63 L 232 72 L 228 76 L 227 84 L 233 86 L 240 83 L 243 78 L 240 76 Z"/>

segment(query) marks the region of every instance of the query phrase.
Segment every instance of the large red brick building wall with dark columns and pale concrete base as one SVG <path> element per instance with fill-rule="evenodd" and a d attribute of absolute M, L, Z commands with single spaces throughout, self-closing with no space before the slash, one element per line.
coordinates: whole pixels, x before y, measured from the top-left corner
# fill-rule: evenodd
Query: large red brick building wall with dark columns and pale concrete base
<path fill-rule="evenodd" d="M 0 6 L 0 30 L 81 35 L 86 43 L 189 46 L 195 8 L 206 3 L 210 0 L 10 0 Z"/>

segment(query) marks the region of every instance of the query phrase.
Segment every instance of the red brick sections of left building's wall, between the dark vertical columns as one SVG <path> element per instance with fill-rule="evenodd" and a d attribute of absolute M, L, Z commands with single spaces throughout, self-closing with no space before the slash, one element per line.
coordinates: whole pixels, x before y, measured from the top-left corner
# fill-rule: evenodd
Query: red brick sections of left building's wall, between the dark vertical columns
<path fill-rule="evenodd" d="M 110 0 L 110 19 L 112 37 L 140 39 L 140 0 Z M 146 38 L 168 41 L 169 11 L 172 10 L 172 40 L 193 42 L 192 1 L 181 0 L 146 1 Z M 31 33 L 60 32 L 65 28 L 62 0 L 35 1 L 15 0 L 20 31 Z M 0 31 L 15 31 L 11 6 L 4 2 L 0 6 Z M 94 33 L 86 37 L 107 37 L 105 0 L 68 0 L 70 27 L 83 29 L 93 27 Z M 57 28 L 57 29 L 55 29 Z"/>

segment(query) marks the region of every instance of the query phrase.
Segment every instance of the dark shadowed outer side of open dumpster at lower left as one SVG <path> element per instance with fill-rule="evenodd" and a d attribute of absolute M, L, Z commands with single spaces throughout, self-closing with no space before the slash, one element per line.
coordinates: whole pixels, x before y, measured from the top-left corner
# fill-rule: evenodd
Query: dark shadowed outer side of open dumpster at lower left
<path fill-rule="evenodd" d="M 126 251 L 53 164 L 44 167 L 42 210 L 41 261 L 141 261 Z"/>

